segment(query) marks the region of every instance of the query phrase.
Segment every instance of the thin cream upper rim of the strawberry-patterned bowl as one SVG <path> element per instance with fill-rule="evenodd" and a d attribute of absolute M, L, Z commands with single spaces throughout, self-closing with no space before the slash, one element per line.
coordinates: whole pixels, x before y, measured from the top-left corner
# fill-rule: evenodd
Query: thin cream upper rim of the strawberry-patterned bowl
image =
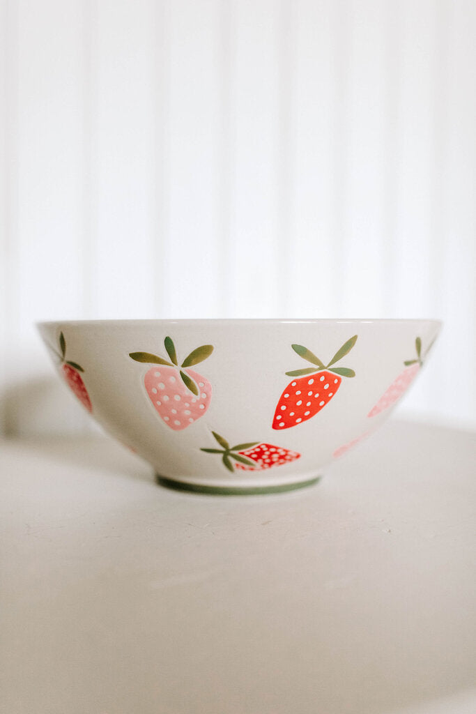
<path fill-rule="evenodd" d="M 365 324 L 365 323 L 378 323 L 378 324 L 416 324 L 416 323 L 433 323 L 435 326 L 442 327 L 442 320 L 439 318 L 146 318 L 146 319 L 135 319 L 127 318 L 122 319 L 106 319 L 106 320 L 40 320 L 36 321 L 34 324 L 37 327 L 42 326 L 133 326 L 133 325 L 220 325 L 220 326 L 232 326 L 232 325 L 257 325 L 261 323 L 263 325 L 285 325 L 285 324 L 300 324 L 300 325 L 320 325 L 320 324 Z"/>

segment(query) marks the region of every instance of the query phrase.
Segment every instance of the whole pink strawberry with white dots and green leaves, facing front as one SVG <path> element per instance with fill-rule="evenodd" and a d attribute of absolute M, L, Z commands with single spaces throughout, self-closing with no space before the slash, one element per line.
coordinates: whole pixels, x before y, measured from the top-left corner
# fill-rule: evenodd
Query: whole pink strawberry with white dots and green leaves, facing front
<path fill-rule="evenodd" d="M 170 337 L 165 338 L 164 346 L 170 361 L 150 352 L 131 352 L 129 357 L 153 365 L 144 376 L 148 397 L 163 423 L 174 431 L 181 431 L 203 416 L 210 406 L 211 383 L 190 367 L 209 357 L 213 347 L 197 347 L 178 366 Z"/>

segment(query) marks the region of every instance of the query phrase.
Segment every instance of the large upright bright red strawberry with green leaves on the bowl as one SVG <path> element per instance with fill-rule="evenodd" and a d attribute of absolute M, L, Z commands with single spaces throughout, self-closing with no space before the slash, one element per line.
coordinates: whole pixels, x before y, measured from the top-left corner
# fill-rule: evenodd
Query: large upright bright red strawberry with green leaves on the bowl
<path fill-rule="evenodd" d="M 324 365 L 307 347 L 292 345 L 293 350 L 314 367 L 286 372 L 295 379 L 280 396 L 273 417 L 273 429 L 289 429 L 307 421 L 333 398 L 343 377 L 355 377 L 353 369 L 333 365 L 350 352 L 356 341 L 357 335 L 354 335 L 345 342 L 328 365 Z"/>

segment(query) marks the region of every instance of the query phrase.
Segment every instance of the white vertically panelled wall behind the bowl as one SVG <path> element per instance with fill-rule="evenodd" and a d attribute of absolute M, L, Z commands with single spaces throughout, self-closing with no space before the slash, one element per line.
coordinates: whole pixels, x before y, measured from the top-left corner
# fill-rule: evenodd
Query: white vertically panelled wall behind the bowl
<path fill-rule="evenodd" d="M 440 317 L 402 409 L 474 426 L 475 37 L 474 0 L 3 0 L 0 432 L 88 428 L 34 321 L 129 317 Z"/>

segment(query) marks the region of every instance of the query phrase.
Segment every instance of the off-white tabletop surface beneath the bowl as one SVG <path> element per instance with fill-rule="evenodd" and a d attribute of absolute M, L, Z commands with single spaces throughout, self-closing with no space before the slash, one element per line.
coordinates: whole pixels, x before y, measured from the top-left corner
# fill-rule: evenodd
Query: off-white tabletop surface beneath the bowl
<path fill-rule="evenodd" d="M 390 421 L 314 487 L 0 444 L 5 714 L 474 714 L 476 436 Z"/>

